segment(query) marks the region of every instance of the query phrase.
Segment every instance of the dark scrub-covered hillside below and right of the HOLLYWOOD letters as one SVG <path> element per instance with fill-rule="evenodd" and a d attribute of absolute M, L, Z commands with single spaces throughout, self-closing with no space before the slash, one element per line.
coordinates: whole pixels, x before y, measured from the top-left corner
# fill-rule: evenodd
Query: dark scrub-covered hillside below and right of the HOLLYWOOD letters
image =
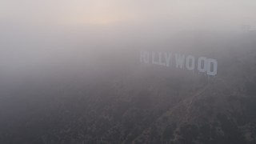
<path fill-rule="evenodd" d="M 134 60 L 2 78 L 0 143 L 256 143 L 255 37 L 212 43 L 215 77 Z"/>

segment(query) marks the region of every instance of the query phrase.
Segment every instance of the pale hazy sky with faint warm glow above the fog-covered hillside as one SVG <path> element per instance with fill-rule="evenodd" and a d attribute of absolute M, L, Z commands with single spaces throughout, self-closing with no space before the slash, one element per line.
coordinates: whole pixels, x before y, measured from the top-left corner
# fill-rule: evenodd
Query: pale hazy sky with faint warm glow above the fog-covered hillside
<path fill-rule="evenodd" d="M 94 57 L 96 48 L 128 49 L 134 39 L 256 26 L 255 7 L 255 0 L 0 0 L 0 68 L 65 64 L 62 58 L 92 64 L 79 58 Z"/>

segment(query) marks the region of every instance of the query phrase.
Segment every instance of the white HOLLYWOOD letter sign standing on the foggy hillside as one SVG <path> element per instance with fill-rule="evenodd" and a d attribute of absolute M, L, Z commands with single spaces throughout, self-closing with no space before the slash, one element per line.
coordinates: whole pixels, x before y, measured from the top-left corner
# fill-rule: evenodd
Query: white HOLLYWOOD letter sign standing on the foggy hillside
<path fill-rule="evenodd" d="M 198 70 L 198 72 L 214 76 L 218 71 L 216 59 L 192 55 L 172 54 L 154 51 L 141 51 L 140 62 L 152 65 L 175 67 L 178 69 Z"/>

